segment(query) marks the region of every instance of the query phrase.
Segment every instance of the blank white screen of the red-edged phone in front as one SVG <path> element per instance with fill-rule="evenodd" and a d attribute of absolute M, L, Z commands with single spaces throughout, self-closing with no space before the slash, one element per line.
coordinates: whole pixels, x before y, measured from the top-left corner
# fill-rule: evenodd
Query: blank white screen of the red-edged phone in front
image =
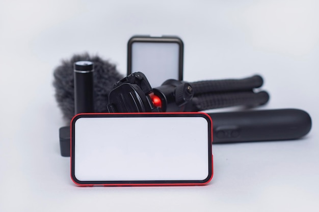
<path fill-rule="evenodd" d="M 74 175 L 81 181 L 203 180 L 203 117 L 82 117 L 75 122 Z"/>

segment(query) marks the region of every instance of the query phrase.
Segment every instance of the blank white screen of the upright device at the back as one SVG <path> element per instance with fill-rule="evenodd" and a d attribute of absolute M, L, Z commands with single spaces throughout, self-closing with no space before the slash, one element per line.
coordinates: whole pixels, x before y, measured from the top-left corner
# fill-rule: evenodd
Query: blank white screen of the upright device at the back
<path fill-rule="evenodd" d="M 142 72 L 152 87 L 167 79 L 178 79 L 179 45 L 177 43 L 134 42 L 131 72 Z"/>

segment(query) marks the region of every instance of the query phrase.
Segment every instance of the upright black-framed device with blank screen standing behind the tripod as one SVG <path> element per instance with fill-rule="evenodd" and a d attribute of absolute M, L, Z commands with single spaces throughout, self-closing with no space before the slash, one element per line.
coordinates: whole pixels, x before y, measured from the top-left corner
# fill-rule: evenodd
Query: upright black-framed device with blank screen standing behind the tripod
<path fill-rule="evenodd" d="M 127 43 L 127 75 L 142 72 L 152 87 L 183 79 L 183 42 L 175 36 L 133 36 Z"/>

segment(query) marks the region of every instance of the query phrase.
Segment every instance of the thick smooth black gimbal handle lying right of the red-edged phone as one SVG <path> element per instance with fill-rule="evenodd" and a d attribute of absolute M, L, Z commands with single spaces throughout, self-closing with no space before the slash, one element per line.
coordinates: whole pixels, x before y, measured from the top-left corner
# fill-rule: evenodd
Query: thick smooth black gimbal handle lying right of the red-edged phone
<path fill-rule="evenodd" d="M 311 129 L 310 115 L 299 109 L 208 113 L 213 143 L 292 140 Z"/>

